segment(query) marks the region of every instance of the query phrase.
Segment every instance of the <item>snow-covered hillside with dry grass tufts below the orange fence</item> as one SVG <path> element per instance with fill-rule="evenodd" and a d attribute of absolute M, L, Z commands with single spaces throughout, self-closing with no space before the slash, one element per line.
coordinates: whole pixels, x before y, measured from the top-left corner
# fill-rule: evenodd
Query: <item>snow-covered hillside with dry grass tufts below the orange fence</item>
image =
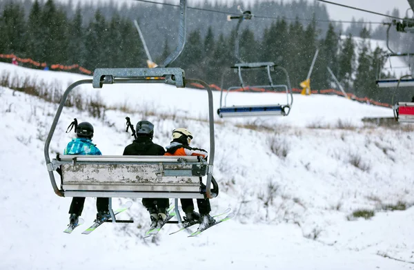
<path fill-rule="evenodd" d="M 20 80 L 68 84 L 90 78 L 0 63 L 1 73 Z M 65 108 L 52 139 L 61 153 L 74 117 L 95 126 L 93 142 L 104 155 L 121 155 L 131 142 L 125 117 L 155 124 L 154 141 L 166 146 L 173 128 L 186 127 L 193 146 L 209 148 L 204 90 L 164 85 L 79 87 L 108 107 L 104 119 Z M 214 93 L 215 110 L 219 92 Z M 286 95 L 230 93 L 231 104 L 284 102 Z M 0 87 L 0 269 L 411 269 L 414 263 L 413 128 L 364 126 L 362 117 L 392 111 L 343 97 L 294 95 L 283 118 L 219 119 L 215 116 L 215 178 L 221 186 L 212 213 L 231 207 L 236 218 L 197 238 L 163 228 L 142 235 L 149 217 L 135 202 L 124 218 L 135 224 L 103 224 L 81 235 L 95 218 L 88 198 L 79 231 L 62 233 L 70 198 L 55 195 L 43 146 L 57 104 Z M 124 200 L 124 199 L 122 199 Z M 115 199 L 115 206 L 121 200 Z M 406 211 L 391 211 L 402 209 Z M 353 218 L 363 210 L 368 220 Z M 365 213 L 364 212 L 364 213 Z"/>

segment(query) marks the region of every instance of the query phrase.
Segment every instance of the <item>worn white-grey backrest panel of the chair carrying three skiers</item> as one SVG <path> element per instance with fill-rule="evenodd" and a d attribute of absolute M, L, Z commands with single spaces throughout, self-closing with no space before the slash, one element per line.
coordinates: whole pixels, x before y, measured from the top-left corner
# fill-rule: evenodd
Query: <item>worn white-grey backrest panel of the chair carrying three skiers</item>
<path fill-rule="evenodd" d="M 206 162 L 197 157 L 61 155 L 54 161 L 68 197 L 204 197 Z"/>

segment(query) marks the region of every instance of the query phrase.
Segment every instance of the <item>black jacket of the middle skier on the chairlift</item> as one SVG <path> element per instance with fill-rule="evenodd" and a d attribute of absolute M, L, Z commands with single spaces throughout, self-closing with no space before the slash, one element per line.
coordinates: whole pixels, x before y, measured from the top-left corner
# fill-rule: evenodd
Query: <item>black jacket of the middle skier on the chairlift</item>
<path fill-rule="evenodd" d="M 123 155 L 164 155 L 164 147 L 154 144 L 150 137 L 137 137 L 126 146 Z"/>

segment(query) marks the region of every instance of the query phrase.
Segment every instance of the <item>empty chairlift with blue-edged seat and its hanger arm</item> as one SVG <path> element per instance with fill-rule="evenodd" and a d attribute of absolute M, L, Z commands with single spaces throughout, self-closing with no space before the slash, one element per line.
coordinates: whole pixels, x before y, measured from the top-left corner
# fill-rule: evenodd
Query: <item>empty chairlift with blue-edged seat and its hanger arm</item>
<path fill-rule="evenodd" d="M 237 7 L 241 12 L 240 6 Z M 235 64 L 230 68 L 234 69 L 235 72 L 239 75 L 240 86 L 231 86 L 230 88 L 224 90 L 223 82 L 224 82 L 224 74 L 221 77 L 221 93 L 220 93 L 220 107 L 217 110 L 217 114 L 220 117 L 245 117 L 245 116 L 260 116 L 260 115 L 277 115 L 277 116 L 286 116 L 290 113 L 290 108 L 293 103 L 293 94 L 292 88 L 290 87 L 290 79 L 288 72 L 285 68 L 281 66 L 276 66 L 273 62 L 253 62 L 253 63 L 246 63 L 239 57 L 239 28 L 242 21 L 251 19 L 253 15 L 251 15 L 250 11 L 242 12 L 243 14 L 240 16 L 228 16 L 228 21 L 231 19 L 238 19 L 238 23 L 236 26 L 236 39 L 235 39 L 235 57 L 241 62 Z M 236 90 L 239 88 L 245 89 L 246 86 L 244 84 L 244 80 L 242 77 L 243 70 L 266 70 L 268 75 L 268 84 L 267 85 L 259 85 L 259 86 L 249 86 L 250 88 L 262 88 L 262 89 L 270 89 L 276 90 L 277 88 L 282 88 L 286 90 L 286 104 L 268 104 L 268 105 L 239 105 L 239 106 L 227 106 L 227 95 L 232 90 Z M 286 84 L 273 84 L 273 80 L 271 77 L 271 72 L 275 69 L 282 70 L 282 72 L 286 75 Z M 223 93 L 226 91 L 226 96 L 223 100 Z M 290 97 L 290 99 L 289 99 Z"/>

